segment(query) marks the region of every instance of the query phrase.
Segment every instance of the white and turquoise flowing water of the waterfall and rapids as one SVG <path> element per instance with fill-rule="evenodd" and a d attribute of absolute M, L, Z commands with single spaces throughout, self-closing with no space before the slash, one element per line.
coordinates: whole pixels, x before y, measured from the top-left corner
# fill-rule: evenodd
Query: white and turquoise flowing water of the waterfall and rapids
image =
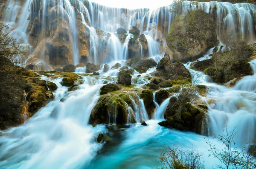
<path fill-rule="evenodd" d="M 42 0 L 42 4 L 38 4 L 36 0 L 24 0 L 24 2 L 21 6 L 15 0 L 9 0 L 8 7 L 11 10 L 6 10 L 4 22 L 13 26 L 14 32 L 12 34 L 18 33 L 20 41 L 28 44 L 27 18 L 33 17 L 29 11 L 39 7 L 50 8 L 53 6 L 52 3 L 57 4 L 57 0 Z M 60 2 L 58 15 L 67 17 L 68 30 L 71 30 L 69 33 L 74 64 L 79 62 L 78 32 L 75 22 L 76 10 L 81 15 L 82 23 L 90 31 L 90 62 L 108 63 L 110 66 L 119 62 L 124 65 L 124 60 L 128 59 L 128 40 L 132 35 L 128 34 L 127 39 L 122 44 L 116 36 L 116 29 L 122 27 L 128 31 L 133 25 L 141 30 L 141 34 L 145 34 L 148 41 L 149 57 L 154 58 L 156 62 L 159 62 L 163 57 L 164 49 L 160 48 L 160 43 L 157 40 L 164 39 L 171 28 L 173 14 L 169 13 L 169 7 L 154 10 L 147 8 L 122 9 L 106 7 L 97 3 L 87 3 L 87 1 L 85 3 L 84 0 L 58 0 L 58 2 Z M 216 1 L 199 3 L 199 6 L 203 6 L 203 4 L 207 6 L 205 10 L 212 17 L 216 17 L 220 23 L 217 28 L 219 39 L 221 39 L 225 29 L 231 28 L 241 33 L 244 38 L 249 37 L 249 43 L 255 41 L 253 30 L 255 17 L 253 18 L 253 16 L 256 6 L 247 3 L 231 4 Z M 24 12 L 20 14 L 19 21 L 15 22 L 18 8 L 23 8 Z M 43 12 L 47 11 L 43 10 Z M 48 20 L 44 19 L 46 15 L 53 17 L 56 14 L 53 10 L 51 12 L 50 14 L 41 14 L 45 27 L 43 27 L 41 37 L 39 37 L 40 40 L 47 37 L 49 24 L 47 23 Z M 88 15 L 89 23 L 84 18 L 85 14 Z M 236 30 L 235 24 L 238 25 L 238 30 Z M 158 34 L 157 28 L 159 25 L 164 25 L 163 32 L 160 34 Z M 105 35 L 99 38 L 94 27 L 105 31 Z M 111 36 L 107 41 L 108 34 Z M 106 48 L 103 47 L 104 44 Z M 35 54 L 36 49 L 41 47 L 34 46 L 31 54 Z M 104 50 L 108 55 L 103 56 L 99 53 L 99 51 Z M 198 60 L 209 59 L 209 54 L 212 51 L 213 48 Z M 38 70 L 52 70 L 43 55 L 40 56 L 40 62 L 35 63 L 38 64 Z M 143 57 L 143 54 L 141 55 Z M 191 64 L 189 62 L 184 65 L 186 68 L 190 68 Z M 252 142 L 256 138 L 256 60 L 250 62 L 250 65 L 255 74 L 244 77 L 232 88 L 212 83 L 204 73 L 189 69 L 195 84 L 209 87 L 207 96 L 201 98 L 209 107 L 207 126 L 205 126 L 208 129 L 207 133 L 209 135 L 220 134 L 226 125 L 230 126 L 230 130 L 237 127 L 236 143 L 240 148 L 245 146 L 248 141 Z M 79 85 L 78 90 L 71 92 L 68 92 L 67 87 L 60 84 L 61 78 L 50 79 L 42 76 L 42 79 L 54 82 L 58 86 L 58 89 L 53 93 L 55 99 L 41 108 L 23 125 L 0 132 L 2 135 L 0 137 L 0 169 L 148 169 L 151 166 L 155 168 L 160 166 L 159 157 L 165 144 L 168 146 L 176 144 L 185 149 L 191 145 L 198 147 L 200 152 L 204 152 L 206 168 L 212 168 L 215 163 L 218 163 L 215 158 L 208 156 L 204 136 L 192 132 L 167 129 L 157 124 L 163 120 L 163 113 L 169 98 L 160 105 L 155 103 L 156 109 L 153 118 L 149 120 L 143 100 L 137 96 L 131 97 L 136 105 L 136 111 L 128 110 L 134 116 L 136 123 L 129 124 L 132 118 L 128 118 L 128 128 L 122 131 L 121 140 L 114 147 L 109 147 L 107 152 L 101 152 L 104 150 L 105 144 L 96 143 L 95 139 L 99 133 L 106 133 L 107 129 L 103 124 L 92 127 L 88 121 L 91 110 L 99 99 L 99 89 L 104 85 L 105 77 L 111 77 L 108 79 L 108 83 L 116 82 L 115 78 L 119 70 L 112 69 L 103 73 L 102 67 L 99 70 L 101 73 L 99 78 L 84 74 L 85 70 L 86 67 L 76 68 L 75 73 L 82 77 L 83 84 Z M 155 70 L 156 68 L 150 68 L 146 73 L 141 74 L 135 71 L 132 80 L 138 74 L 141 75 L 135 84 L 136 87 L 148 83 L 149 81 L 145 76 Z M 60 101 L 63 98 L 64 101 Z M 115 117 L 112 119 L 111 123 L 114 123 Z M 141 126 L 141 120 L 145 120 L 148 126 Z M 221 147 L 215 139 L 211 141 Z"/>

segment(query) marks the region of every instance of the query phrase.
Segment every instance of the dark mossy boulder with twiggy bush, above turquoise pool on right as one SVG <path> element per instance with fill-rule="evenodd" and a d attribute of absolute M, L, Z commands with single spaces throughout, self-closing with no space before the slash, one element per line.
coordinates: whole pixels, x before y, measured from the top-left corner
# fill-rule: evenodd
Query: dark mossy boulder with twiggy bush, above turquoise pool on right
<path fill-rule="evenodd" d="M 164 113 L 166 121 L 158 123 L 161 126 L 177 130 L 193 131 L 202 134 L 202 125 L 205 124 L 207 108 L 183 102 L 172 97 Z"/>

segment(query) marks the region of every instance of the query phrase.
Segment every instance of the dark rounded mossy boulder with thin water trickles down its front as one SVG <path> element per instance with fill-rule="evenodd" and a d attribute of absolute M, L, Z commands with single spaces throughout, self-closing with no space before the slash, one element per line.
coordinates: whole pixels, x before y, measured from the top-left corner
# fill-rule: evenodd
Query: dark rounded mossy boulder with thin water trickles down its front
<path fill-rule="evenodd" d="M 90 124 L 126 124 L 128 116 L 128 109 L 125 101 L 117 96 L 102 95 L 93 107 L 90 114 Z"/>

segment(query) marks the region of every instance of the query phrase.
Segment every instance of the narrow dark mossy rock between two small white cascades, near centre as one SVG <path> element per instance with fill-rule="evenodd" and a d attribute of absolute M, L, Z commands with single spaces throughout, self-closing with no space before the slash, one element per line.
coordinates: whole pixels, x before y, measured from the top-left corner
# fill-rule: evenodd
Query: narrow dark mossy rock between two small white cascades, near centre
<path fill-rule="evenodd" d="M 143 99 L 145 109 L 148 113 L 149 119 L 151 118 L 151 114 L 154 113 L 155 104 L 153 98 L 153 92 L 151 90 L 143 90 L 139 94 L 140 98 Z"/>

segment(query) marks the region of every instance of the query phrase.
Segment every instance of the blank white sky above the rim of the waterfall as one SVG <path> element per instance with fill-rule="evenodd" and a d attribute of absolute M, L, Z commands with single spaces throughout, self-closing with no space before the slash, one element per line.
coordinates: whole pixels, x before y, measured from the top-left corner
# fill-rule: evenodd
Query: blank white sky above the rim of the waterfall
<path fill-rule="evenodd" d="M 89 0 L 90 2 L 96 2 L 104 6 L 116 7 L 116 8 L 149 8 L 155 9 L 161 6 L 168 6 L 172 3 L 172 0 Z"/>

